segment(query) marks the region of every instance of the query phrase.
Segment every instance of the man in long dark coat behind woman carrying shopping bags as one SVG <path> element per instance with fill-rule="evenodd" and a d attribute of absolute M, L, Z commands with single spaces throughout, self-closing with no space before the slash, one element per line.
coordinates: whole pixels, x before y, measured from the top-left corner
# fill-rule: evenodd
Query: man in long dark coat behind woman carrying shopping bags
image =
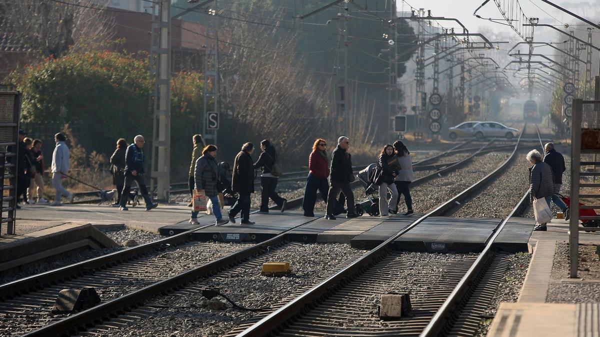
<path fill-rule="evenodd" d="M 229 221 L 235 224 L 235 216 L 241 213 L 242 225 L 253 225 L 250 221 L 250 194 L 254 193 L 254 161 L 252 160 L 254 152 L 253 143 L 245 143 L 242 151 L 235 156 L 233 161 L 233 176 L 231 179 L 231 189 L 238 192 L 238 200 L 231 207 L 227 215 Z"/>

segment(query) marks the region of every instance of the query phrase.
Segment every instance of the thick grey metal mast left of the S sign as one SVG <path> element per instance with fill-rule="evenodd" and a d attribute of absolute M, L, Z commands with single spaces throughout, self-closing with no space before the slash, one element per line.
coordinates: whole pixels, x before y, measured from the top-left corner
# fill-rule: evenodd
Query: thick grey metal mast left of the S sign
<path fill-rule="evenodd" d="M 157 179 L 158 200 L 169 201 L 170 185 L 170 116 L 171 116 L 171 14 L 170 1 L 160 0 L 158 4 L 158 51 L 157 79 L 158 104 L 154 109 L 154 133 L 152 134 L 152 153 L 158 158 L 152 158 L 155 169 L 152 176 Z"/>

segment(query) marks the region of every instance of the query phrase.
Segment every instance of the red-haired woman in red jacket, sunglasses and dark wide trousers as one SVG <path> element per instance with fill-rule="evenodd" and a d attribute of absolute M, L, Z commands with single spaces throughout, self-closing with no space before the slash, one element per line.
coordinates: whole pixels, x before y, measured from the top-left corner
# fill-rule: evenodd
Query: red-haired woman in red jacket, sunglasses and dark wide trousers
<path fill-rule="evenodd" d="M 327 157 L 327 143 L 324 139 L 314 141 L 313 152 L 308 157 L 308 177 L 302 200 L 304 216 L 314 216 L 314 203 L 317 201 L 317 190 L 321 192 L 323 201 L 327 202 L 329 192 L 329 158 Z"/>

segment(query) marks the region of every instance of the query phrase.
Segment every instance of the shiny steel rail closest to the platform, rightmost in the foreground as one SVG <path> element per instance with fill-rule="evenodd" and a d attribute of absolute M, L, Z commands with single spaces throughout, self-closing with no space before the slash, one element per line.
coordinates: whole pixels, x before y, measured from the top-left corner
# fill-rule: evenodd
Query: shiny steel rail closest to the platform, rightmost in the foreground
<path fill-rule="evenodd" d="M 535 128 L 538 133 L 538 138 L 540 138 L 537 124 L 535 125 Z M 541 138 L 540 145 L 542 146 L 543 151 L 544 146 L 542 145 Z M 511 218 L 523 214 L 527 205 L 529 205 L 529 189 L 525 192 L 523 197 L 521 197 L 511 213 L 509 213 L 509 215 L 500 223 L 499 227 L 494 231 L 494 234 L 487 240 L 484 250 L 479 254 L 479 257 L 475 260 L 461 281 L 458 282 L 450 296 L 448 296 L 443 305 L 438 309 L 430 323 L 427 324 L 427 327 L 421 332 L 421 337 L 439 336 L 442 333 L 442 330 L 444 330 L 446 324 L 449 323 L 453 315 L 457 314 L 456 311 L 460 306 L 463 297 L 467 294 L 467 291 L 473 287 L 474 280 L 478 277 L 482 267 L 485 266 L 489 258 L 493 255 L 494 240 L 496 240 Z"/>

